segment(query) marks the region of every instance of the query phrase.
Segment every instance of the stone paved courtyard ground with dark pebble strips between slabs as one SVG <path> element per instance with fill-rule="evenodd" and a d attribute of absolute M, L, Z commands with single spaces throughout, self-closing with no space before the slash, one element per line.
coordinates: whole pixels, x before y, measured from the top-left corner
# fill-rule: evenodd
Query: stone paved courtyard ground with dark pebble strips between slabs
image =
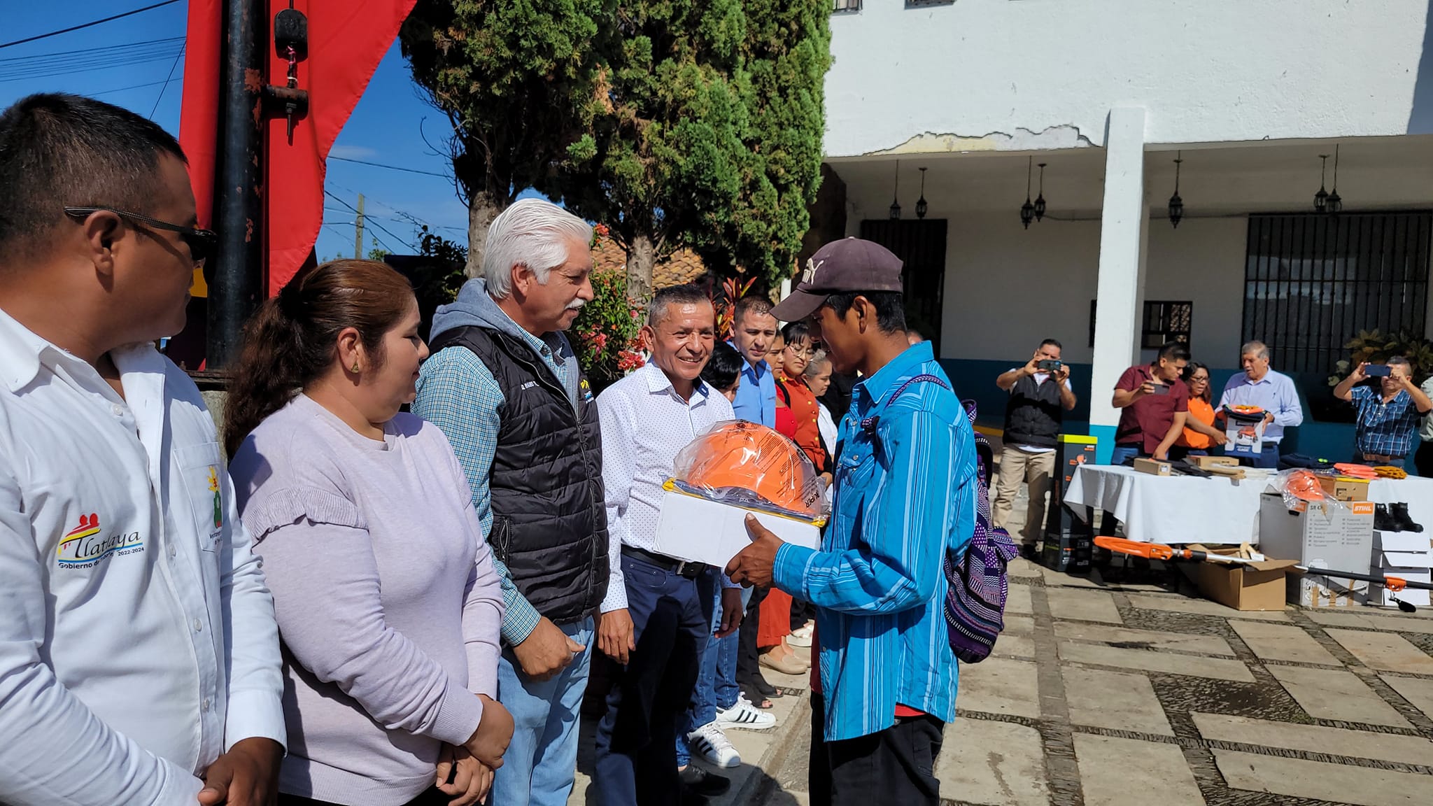
<path fill-rule="evenodd" d="M 995 657 L 960 668 L 947 803 L 1433 805 L 1433 611 L 1238 612 L 1154 581 L 1012 566 Z M 731 731 L 748 764 L 718 806 L 807 806 L 810 707 L 778 703 L 775 731 Z"/>

